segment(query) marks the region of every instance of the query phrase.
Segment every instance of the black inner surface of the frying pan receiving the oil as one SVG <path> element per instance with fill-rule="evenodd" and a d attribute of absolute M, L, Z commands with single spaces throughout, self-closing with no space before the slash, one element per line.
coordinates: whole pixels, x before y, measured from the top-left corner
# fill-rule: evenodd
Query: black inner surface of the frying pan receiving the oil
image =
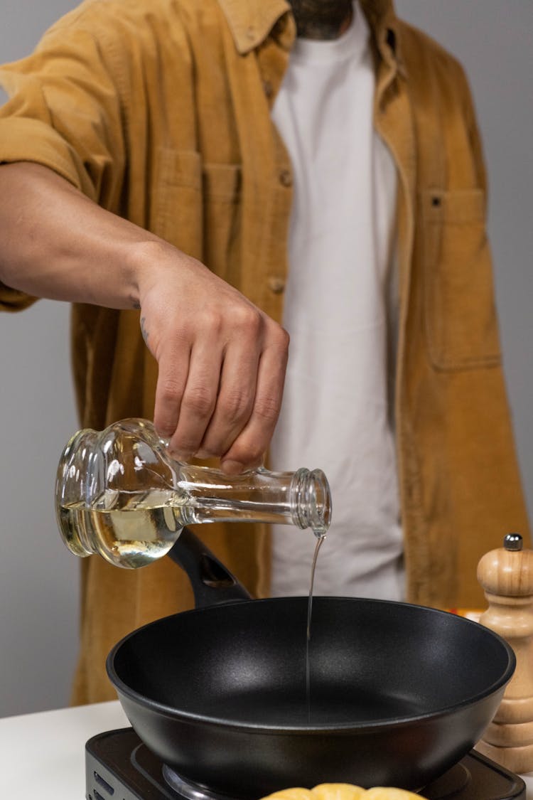
<path fill-rule="evenodd" d="M 306 614 L 306 598 L 176 614 L 125 638 L 110 675 L 125 694 L 179 715 L 337 728 L 439 714 L 509 677 L 503 642 L 463 618 L 404 603 L 314 598 L 308 694 Z"/>

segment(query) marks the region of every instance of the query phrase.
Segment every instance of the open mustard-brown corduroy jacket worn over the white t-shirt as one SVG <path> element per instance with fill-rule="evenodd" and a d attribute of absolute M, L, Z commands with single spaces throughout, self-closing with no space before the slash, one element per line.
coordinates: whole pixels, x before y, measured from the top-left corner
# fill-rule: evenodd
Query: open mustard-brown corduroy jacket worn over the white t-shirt
<path fill-rule="evenodd" d="M 527 534 L 527 519 L 479 135 L 459 64 L 389 0 L 362 6 L 376 130 L 399 175 L 395 414 L 408 599 L 480 607 L 480 556 L 510 530 Z M 280 320 L 292 167 L 269 112 L 294 36 L 285 0 L 86 0 L 33 55 L 0 70 L 12 94 L 0 110 L 0 161 L 49 166 Z M 0 287 L 3 309 L 30 302 Z M 74 306 L 72 342 L 82 426 L 151 417 L 157 365 L 138 312 Z M 249 590 L 268 593 L 266 530 L 197 532 Z M 123 634 L 193 605 L 167 561 L 137 571 L 82 562 L 75 702 L 113 697 L 105 656 Z"/>

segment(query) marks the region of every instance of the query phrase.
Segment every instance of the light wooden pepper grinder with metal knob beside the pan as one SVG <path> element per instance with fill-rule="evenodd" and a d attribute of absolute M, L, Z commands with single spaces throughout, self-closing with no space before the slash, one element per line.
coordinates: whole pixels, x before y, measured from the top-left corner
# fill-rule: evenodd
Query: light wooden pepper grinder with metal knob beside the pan
<path fill-rule="evenodd" d="M 481 558 L 477 577 L 488 601 L 479 622 L 515 651 L 516 669 L 476 750 L 515 773 L 533 771 L 533 550 L 520 534 Z"/>

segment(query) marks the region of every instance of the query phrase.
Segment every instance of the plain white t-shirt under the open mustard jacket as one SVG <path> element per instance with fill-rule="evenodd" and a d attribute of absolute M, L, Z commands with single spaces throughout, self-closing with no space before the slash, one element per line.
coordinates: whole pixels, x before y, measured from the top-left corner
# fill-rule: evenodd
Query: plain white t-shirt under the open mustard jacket
<path fill-rule="evenodd" d="M 372 126 L 368 24 L 296 39 L 272 110 L 294 172 L 284 327 L 291 337 L 273 470 L 320 467 L 332 526 L 316 594 L 404 598 L 390 343 L 396 168 Z M 312 534 L 272 529 L 272 595 L 307 594 Z"/>

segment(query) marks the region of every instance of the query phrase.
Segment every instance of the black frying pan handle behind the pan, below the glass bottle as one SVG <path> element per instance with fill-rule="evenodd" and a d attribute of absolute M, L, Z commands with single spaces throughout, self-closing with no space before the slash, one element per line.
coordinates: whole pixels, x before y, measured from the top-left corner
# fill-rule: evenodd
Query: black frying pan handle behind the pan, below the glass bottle
<path fill-rule="evenodd" d="M 197 608 L 252 599 L 245 587 L 189 528 L 181 531 L 168 555 L 187 573 Z"/>

